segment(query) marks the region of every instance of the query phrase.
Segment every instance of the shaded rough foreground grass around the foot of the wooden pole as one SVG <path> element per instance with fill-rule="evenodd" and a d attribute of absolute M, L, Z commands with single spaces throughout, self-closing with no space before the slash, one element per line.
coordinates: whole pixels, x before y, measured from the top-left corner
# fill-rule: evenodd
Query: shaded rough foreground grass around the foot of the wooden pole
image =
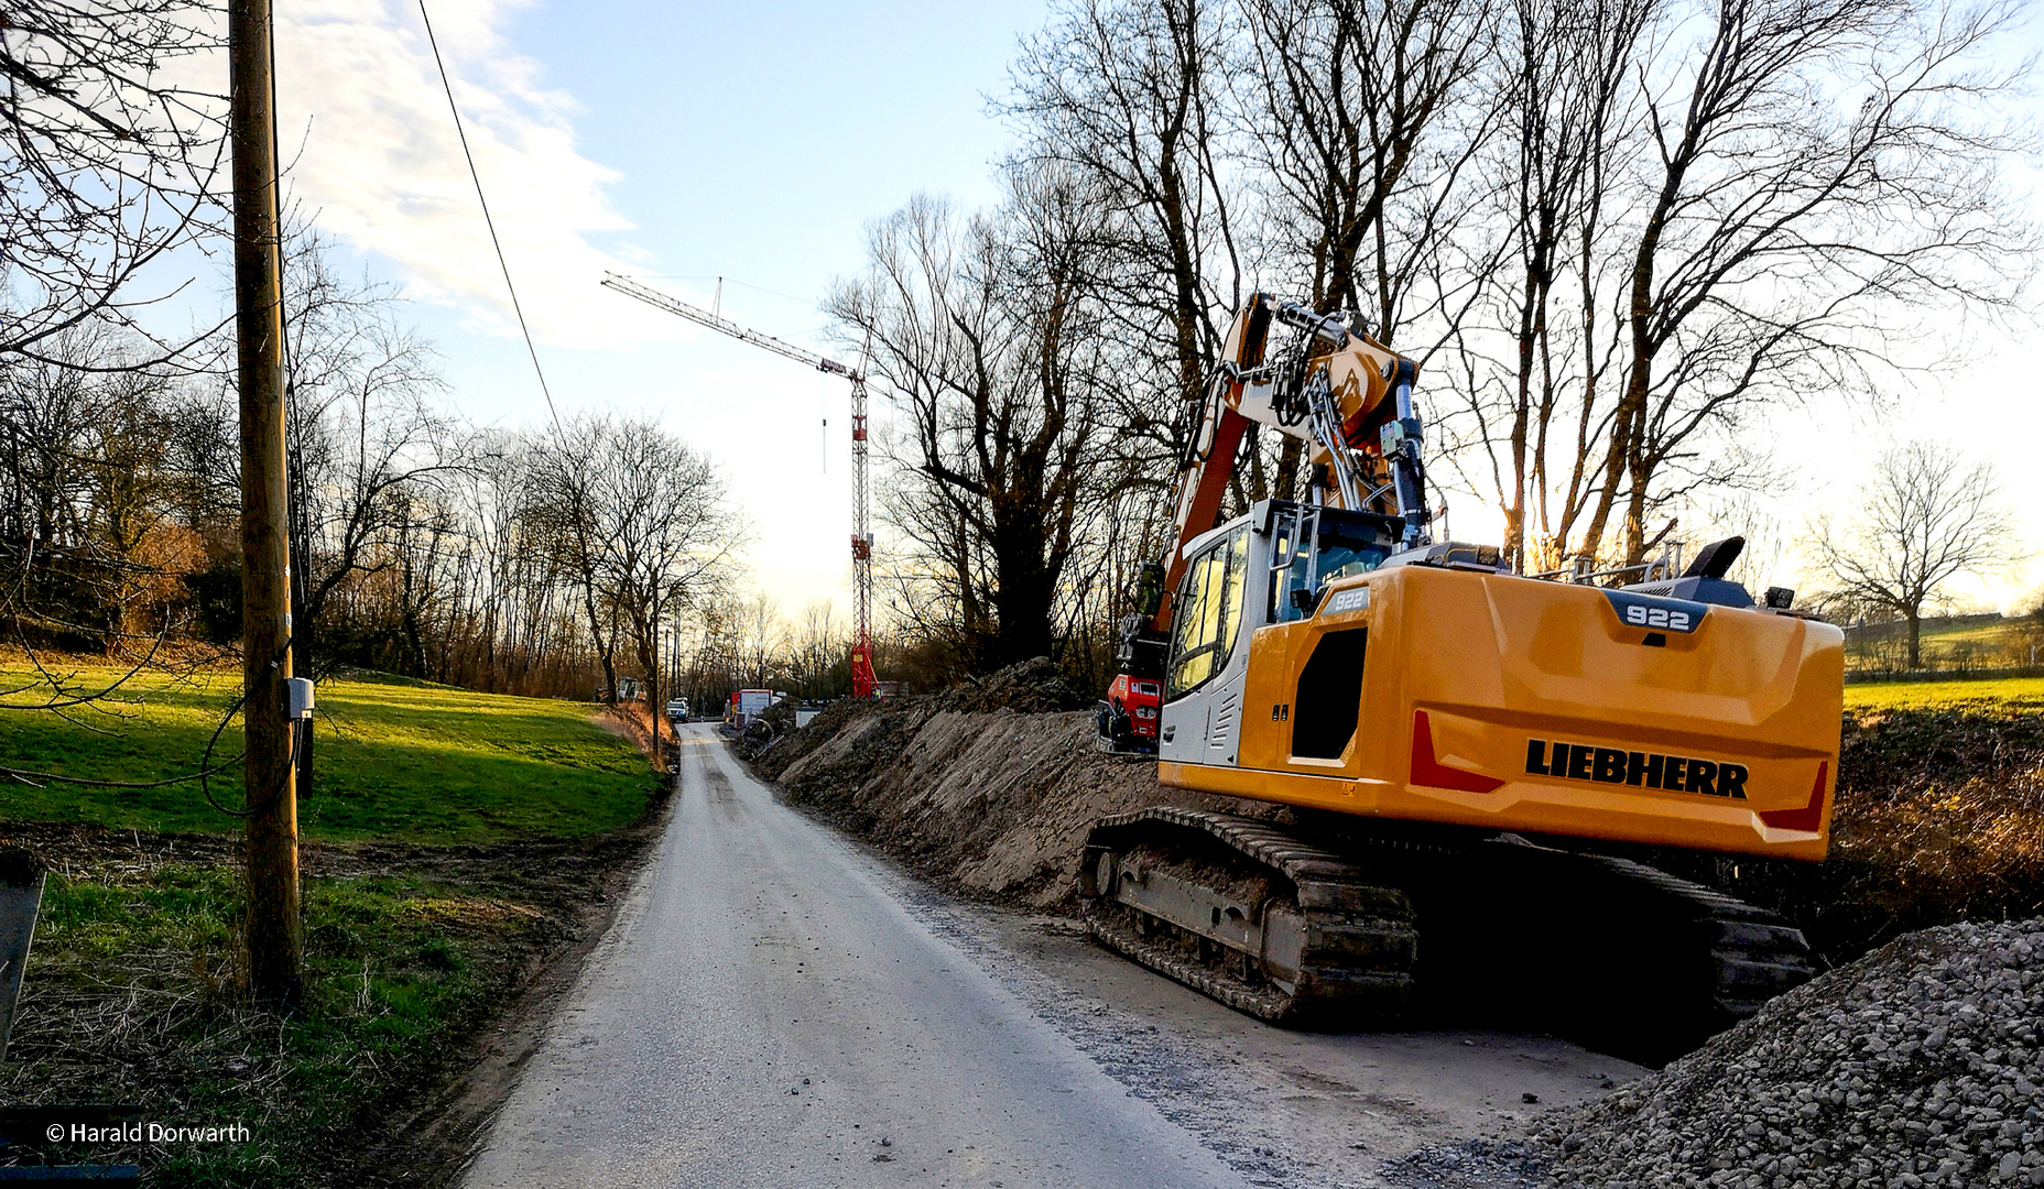
<path fill-rule="evenodd" d="M 0 1093 L 14 1105 L 131 1101 L 166 1124 L 251 1130 L 247 1144 L 53 1156 L 139 1158 L 151 1185 L 333 1183 L 313 1140 L 370 1124 L 405 1085 L 399 1071 L 444 1050 L 450 1017 L 482 1007 L 501 983 L 489 970 L 550 928 L 523 905 L 419 878 L 309 881 L 307 1011 L 280 1021 L 233 991 L 235 903 L 225 866 L 51 874 Z M 92 993 L 65 993 L 80 987 Z"/>

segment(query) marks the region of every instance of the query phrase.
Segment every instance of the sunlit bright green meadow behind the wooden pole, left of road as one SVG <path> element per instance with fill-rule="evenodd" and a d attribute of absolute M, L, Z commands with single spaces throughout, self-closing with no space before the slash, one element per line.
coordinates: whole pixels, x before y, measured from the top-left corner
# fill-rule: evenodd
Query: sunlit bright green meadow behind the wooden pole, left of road
<path fill-rule="evenodd" d="M 82 668 L 82 684 L 119 670 Z M 0 668 L 6 688 L 29 672 Z M 239 693 L 239 674 L 172 682 L 143 674 L 114 701 L 59 717 L 0 711 L 0 764 L 96 780 L 161 780 L 196 772 L 206 735 Z M 4 699 L 33 701 L 31 695 Z M 333 680 L 319 686 L 313 780 L 298 797 L 307 838 L 472 844 L 513 836 L 578 838 L 617 829 L 646 805 L 644 756 L 593 721 L 587 703 L 476 695 L 425 682 Z M 239 719 L 215 764 L 241 748 Z M 213 778 L 241 805 L 239 764 Z M 237 829 L 206 807 L 198 782 L 92 789 L 47 782 L 0 791 L 0 819 L 96 821 L 166 831 Z"/>

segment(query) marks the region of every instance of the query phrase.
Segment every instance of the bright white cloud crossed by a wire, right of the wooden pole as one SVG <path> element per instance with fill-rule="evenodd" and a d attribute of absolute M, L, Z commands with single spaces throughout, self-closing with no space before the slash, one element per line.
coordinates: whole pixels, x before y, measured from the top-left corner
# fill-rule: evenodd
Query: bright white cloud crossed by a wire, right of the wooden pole
<path fill-rule="evenodd" d="M 693 337 L 668 315 L 597 290 L 605 270 L 632 272 L 621 255 L 642 253 L 591 243 L 632 229 L 607 196 L 619 174 L 580 155 L 578 104 L 501 35 L 517 6 L 437 0 L 431 14 L 533 337 L 572 347 Z M 417 6 L 282 6 L 276 57 L 288 186 L 317 225 L 392 261 L 411 296 L 462 308 L 476 331 L 515 335 Z"/>

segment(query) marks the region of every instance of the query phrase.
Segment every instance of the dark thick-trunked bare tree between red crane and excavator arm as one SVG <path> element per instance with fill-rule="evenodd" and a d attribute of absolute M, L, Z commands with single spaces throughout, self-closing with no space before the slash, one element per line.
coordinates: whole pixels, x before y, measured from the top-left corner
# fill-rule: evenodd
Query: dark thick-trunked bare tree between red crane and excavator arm
<path fill-rule="evenodd" d="M 991 664 L 1057 654 L 1067 566 L 1112 486 L 1096 219 L 1057 172 L 1014 178 L 1010 204 L 979 219 L 918 198 L 873 227 L 867 276 L 830 298 L 905 407 L 895 462 L 912 494 L 887 509 L 918 517 L 910 562 L 957 568 L 961 599 L 985 590 Z"/>

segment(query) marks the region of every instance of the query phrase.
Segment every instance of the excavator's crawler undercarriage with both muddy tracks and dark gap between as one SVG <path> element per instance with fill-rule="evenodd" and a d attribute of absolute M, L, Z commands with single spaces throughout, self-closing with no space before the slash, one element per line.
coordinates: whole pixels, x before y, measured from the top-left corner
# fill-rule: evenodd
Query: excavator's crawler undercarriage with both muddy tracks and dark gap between
<path fill-rule="evenodd" d="M 1329 825 L 1329 823 L 1316 823 Z M 1476 831 L 1298 831 L 1151 807 L 1094 825 L 1102 944 L 1239 1011 L 1382 1028 L 1423 999 L 1666 1060 L 1811 977 L 1774 913 L 1652 866 Z"/>

